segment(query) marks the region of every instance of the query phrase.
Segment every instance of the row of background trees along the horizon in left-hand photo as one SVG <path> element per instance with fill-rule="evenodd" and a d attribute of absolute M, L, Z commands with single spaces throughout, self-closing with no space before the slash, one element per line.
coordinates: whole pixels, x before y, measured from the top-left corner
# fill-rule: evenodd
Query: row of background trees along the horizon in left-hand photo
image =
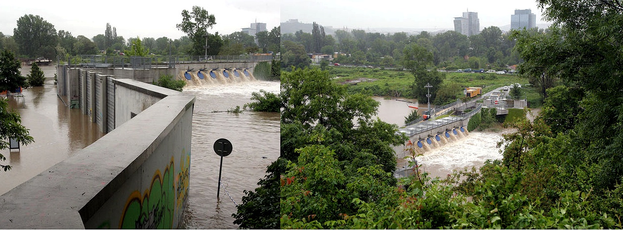
<path fill-rule="evenodd" d="M 205 42 L 209 49 L 208 55 L 240 55 L 252 53 L 277 54 L 280 52 L 280 29 L 273 27 L 270 31 L 262 31 L 254 37 L 242 32 L 221 35 L 207 33 L 207 29 L 216 24 L 216 18 L 201 7 L 193 7 L 191 11 L 182 12 L 182 22 L 178 29 L 188 36 L 178 39 L 169 37 L 143 37 L 141 44 L 136 46 L 136 36 L 127 40 L 117 35 L 117 28 L 106 24 L 103 34 L 93 37 L 74 36 L 70 31 L 56 31 L 54 25 L 42 17 L 27 14 L 17 19 L 17 27 L 13 36 L 0 33 L 0 49 L 11 50 L 19 57 L 35 59 L 45 57 L 56 59 L 76 55 L 204 55 Z M 126 31 L 127 32 L 127 31 Z M 129 51 L 129 52 L 128 52 Z M 63 60 L 63 59 L 61 59 Z"/>

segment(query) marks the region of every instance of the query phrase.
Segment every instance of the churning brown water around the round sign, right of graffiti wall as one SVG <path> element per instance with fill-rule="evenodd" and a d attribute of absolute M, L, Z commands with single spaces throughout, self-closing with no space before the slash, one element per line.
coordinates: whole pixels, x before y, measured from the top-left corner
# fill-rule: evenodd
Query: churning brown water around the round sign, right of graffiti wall
<path fill-rule="evenodd" d="M 251 102 L 252 92 L 278 93 L 279 82 L 250 81 L 184 89 L 196 97 L 191 146 L 191 178 L 186 229 L 233 229 L 231 214 L 242 203 L 244 190 L 253 190 L 266 167 L 277 160 L 280 149 L 279 113 L 226 111 Z M 223 186 L 216 198 L 221 157 L 212 145 L 219 138 L 232 142 L 231 155 L 223 158 Z M 231 196 L 231 198 L 230 198 Z M 233 199 L 233 201 L 232 201 Z M 234 204 L 235 202 L 235 204 Z"/>

